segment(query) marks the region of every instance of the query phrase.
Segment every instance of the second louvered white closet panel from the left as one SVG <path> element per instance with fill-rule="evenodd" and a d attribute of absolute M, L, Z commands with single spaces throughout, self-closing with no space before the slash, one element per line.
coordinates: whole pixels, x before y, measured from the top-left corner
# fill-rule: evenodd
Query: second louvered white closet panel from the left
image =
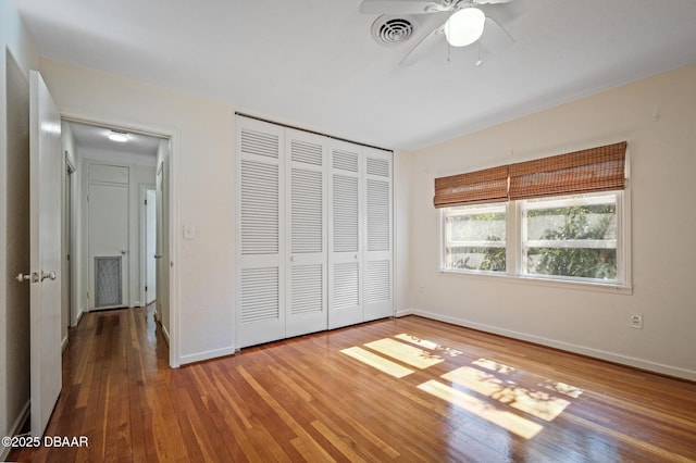
<path fill-rule="evenodd" d="M 324 330 L 326 312 L 325 138 L 286 129 L 286 336 Z"/>

